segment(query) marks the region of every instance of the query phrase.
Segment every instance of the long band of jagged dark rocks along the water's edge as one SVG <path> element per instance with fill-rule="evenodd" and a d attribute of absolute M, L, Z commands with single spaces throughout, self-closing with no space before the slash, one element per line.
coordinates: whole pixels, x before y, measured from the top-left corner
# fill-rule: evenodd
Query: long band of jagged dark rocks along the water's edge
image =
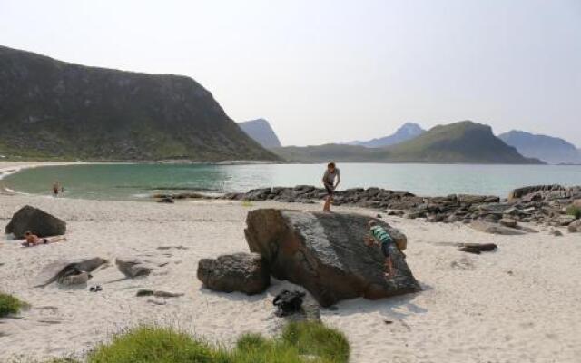
<path fill-rule="evenodd" d="M 323 189 L 299 185 L 294 188 L 261 188 L 245 193 L 229 193 L 221 198 L 239 201 L 313 202 L 326 195 Z M 484 221 L 513 230 L 519 229 L 519 222 L 566 227 L 576 221 L 575 216 L 566 214 L 566 208 L 576 203 L 581 205 L 581 186 L 524 187 L 511 191 L 505 200 L 497 196 L 467 194 L 419 197 L 405 191 L 388 191 L 380 188 L 348 189 L 337 191 L 334 196 L 335 205 L 379 209 L 388 215 L 410 219 L 423 218 L 429 222 Z"/>

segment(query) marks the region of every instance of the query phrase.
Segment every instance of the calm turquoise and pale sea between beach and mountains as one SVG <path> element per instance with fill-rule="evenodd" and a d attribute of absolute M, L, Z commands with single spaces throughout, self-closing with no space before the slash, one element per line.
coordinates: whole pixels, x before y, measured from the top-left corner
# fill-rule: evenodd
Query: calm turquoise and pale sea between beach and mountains
<path fill-rule="evenodd" d="M 534 184 L 581 184 L 581 166 L 363 164 L 338 165 L 340 189 L 377 186 L 419 195 L 452 193 L 506 196 Z M 101 164 L 47 166 L 8 175 L 0 183 L 34 194 L 51 193 L 62 182 L 73 198 L 128 200 L 164 191 L 248 191 L 252 188 L 320 186 L 324 165 Z"/>

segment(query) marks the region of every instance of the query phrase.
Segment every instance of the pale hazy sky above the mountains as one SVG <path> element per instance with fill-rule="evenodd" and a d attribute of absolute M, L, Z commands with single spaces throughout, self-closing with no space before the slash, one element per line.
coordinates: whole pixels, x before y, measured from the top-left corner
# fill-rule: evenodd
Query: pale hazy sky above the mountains
<path fill-rule="evenodd" d="M 0 44 L 192 76 L 284 144 L 470 119 L 581 147 L 581 0 L 0 0 Z"/>

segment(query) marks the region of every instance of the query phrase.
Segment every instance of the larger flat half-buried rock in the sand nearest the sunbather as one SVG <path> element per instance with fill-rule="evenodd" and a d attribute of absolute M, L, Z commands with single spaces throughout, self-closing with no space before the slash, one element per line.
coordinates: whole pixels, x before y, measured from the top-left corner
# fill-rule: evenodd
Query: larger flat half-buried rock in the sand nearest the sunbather
<path fill-rule="evenodd" d="M 42 288 L 57 281 L 63 285 L 77 285 L 86 283 L 90 279 L 90 272 L 93 272 L 107 260 L 100 257 L 80 260 L 57 260 L 41 271 L 35 278 L 34 287 Z"/>

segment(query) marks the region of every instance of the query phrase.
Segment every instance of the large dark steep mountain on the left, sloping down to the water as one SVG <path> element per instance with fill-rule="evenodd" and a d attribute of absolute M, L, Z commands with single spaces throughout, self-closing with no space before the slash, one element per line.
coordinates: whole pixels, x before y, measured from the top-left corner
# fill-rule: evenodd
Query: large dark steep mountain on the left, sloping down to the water
<path fill-rule="evenodd" d="M 199 83 L 0 46 L 0 154 L 90 160 L 276 160 Z"/>

